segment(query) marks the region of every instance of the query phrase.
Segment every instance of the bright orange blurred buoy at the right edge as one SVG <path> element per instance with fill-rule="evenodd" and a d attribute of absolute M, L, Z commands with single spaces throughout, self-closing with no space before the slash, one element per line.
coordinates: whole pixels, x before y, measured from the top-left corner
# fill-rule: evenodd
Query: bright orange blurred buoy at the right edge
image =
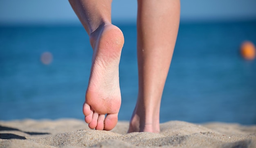
<path fill-rule="evenodd" d="M 253 60 L 256 57 L 256 49 L 252 42 L 244 41 L 240 48 L 241 56 L 246 60 Z"/>

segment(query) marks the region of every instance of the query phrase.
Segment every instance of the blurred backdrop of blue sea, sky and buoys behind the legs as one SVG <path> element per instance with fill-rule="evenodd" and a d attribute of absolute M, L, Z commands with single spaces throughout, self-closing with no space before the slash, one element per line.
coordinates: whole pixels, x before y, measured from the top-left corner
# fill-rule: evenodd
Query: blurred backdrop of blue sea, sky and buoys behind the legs
<path fill-rule="evenodd" d="M 181 0 L 160 122 L 256 124 L 255 7 L 256 0 Z M 119 120 L 126 121 L 138 93 L 136 15 L 136 0 L 113 0 L 112 23 L 125 36 Z M 91 58 L 67 0 L 0 0 L 0 120 L 83 120 Z"/>

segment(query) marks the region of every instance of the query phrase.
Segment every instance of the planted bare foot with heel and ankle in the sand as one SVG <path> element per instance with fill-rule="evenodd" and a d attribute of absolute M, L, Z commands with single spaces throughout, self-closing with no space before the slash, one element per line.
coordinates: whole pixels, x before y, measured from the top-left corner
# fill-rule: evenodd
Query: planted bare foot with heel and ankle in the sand
<path fill-rule="evenodd" d="M 138 105 L 139 104 L 139 105 Z M 138 107 L 139 106 L 139 107 Z M 146 111 L 140 103 L 137 105 L 133 111 L 132 118 L 130 120 L 130 126 L 128 133 L 132 132 L 151 132 L 159 133 L 159 109 L 156 107 L 155 111 L 150 108 L 151 111 Z"/>

